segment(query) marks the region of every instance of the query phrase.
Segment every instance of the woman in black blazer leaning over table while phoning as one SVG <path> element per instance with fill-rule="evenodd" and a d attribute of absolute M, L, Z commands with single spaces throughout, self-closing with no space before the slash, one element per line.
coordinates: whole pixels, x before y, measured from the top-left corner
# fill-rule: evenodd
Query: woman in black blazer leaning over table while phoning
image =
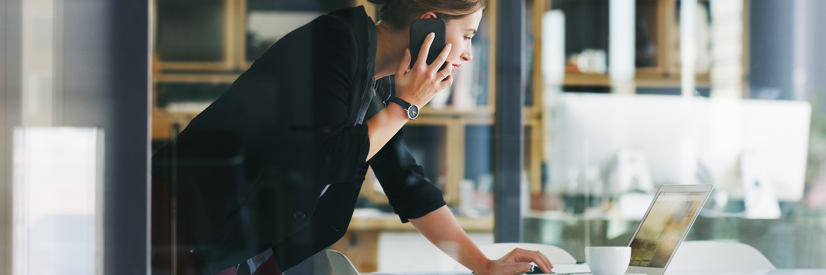
<path fill-rule="evenodd" d="M 192 242 L 188 251 L 209 274 L 291 268 L 344 236 L 370 166 L 401 221 L 474 272 L 513 274 L 533 262 L 550 273 L 535 251 L 485 258 L 401 132 L 415 118 L 406 109 L 425 106 L 472 59 L 485 2 L 370 2 L 382 21 L 347 8 L 278 40 L 154 156 L 154 177 L 173 183 L 188 217 L 182 226 L 192 236 L 181 238 Z M 448 45 L 433 64 L 411 66 L 408 26 L 433 17 L 446 20 Z"/>

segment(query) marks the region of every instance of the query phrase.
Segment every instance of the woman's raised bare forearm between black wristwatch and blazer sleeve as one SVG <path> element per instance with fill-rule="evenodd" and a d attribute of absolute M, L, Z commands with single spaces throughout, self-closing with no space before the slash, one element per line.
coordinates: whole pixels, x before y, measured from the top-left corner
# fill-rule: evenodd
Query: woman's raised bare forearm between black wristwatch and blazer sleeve
<path fill-rule="evenodd" d="M 401 108 L 396 103 L 387 104 L 381 111 L 378 111 L 375 116 L 371 117 L 366 123 L 368 127 L 368 138 L 370 140 L 370 150 L 367 154 L 367 159 L 373 158 L 373 155 L 382 149 L 387 141 L 393 138 L 394 135 L 405 126 L 405 123 L 410 121 L 407 118 L 407 111 Z"/>

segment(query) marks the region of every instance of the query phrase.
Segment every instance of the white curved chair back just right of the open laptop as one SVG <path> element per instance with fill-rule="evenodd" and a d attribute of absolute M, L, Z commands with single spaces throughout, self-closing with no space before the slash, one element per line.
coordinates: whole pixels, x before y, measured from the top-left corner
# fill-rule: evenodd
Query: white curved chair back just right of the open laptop
<path fill-rule="evenodd" d="M 774 264 L 751 245 L 714 241 L 684 241 L 666 274 L 732 273 L 775 270 Z"/>

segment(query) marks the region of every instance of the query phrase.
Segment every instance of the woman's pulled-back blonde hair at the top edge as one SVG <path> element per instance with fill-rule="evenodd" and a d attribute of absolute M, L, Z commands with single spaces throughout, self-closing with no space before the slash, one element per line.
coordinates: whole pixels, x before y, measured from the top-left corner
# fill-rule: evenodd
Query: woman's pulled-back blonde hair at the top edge
<path fill-rule="evenodd" d="M 376 5 L 378 17 L 396 29 L 404 29 L 427 12 L 444 20 L 459 19 L 484 9 L 487 0 L 368 0 Z"/>

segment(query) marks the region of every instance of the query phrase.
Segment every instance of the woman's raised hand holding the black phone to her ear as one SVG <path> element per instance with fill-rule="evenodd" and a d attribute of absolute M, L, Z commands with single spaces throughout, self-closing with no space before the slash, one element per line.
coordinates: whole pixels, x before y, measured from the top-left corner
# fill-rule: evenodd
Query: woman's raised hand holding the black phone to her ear
<path fill-rule="evenodd" d="M 425 106 L 437 92 L 453 84 L 453 76 L 450 75 L 450 69 L 453 68 L 453 65 L 450 62 L 447 62 L 444 69 L 439 71 L 441 64 L 444 64 L 448 59 L 450 44 L 444 45 L 444 49 L 432 64 L 429 65 L 425 62 L 434 36 L 434 33 L 431 32 L 430 35 L 425 37 L 425 43 L 422 43 L 419 57 L 412 68 L 410 67 L 411 51 L 406 49 L 405 56 L 401 58 L 401 64 L 396 69 L 396 97 L 419 107 Z M 411 69 L 408 70 L 407 68 Z M 445 75 L 447 75 L 447 78 L 444 77 Z"/>

